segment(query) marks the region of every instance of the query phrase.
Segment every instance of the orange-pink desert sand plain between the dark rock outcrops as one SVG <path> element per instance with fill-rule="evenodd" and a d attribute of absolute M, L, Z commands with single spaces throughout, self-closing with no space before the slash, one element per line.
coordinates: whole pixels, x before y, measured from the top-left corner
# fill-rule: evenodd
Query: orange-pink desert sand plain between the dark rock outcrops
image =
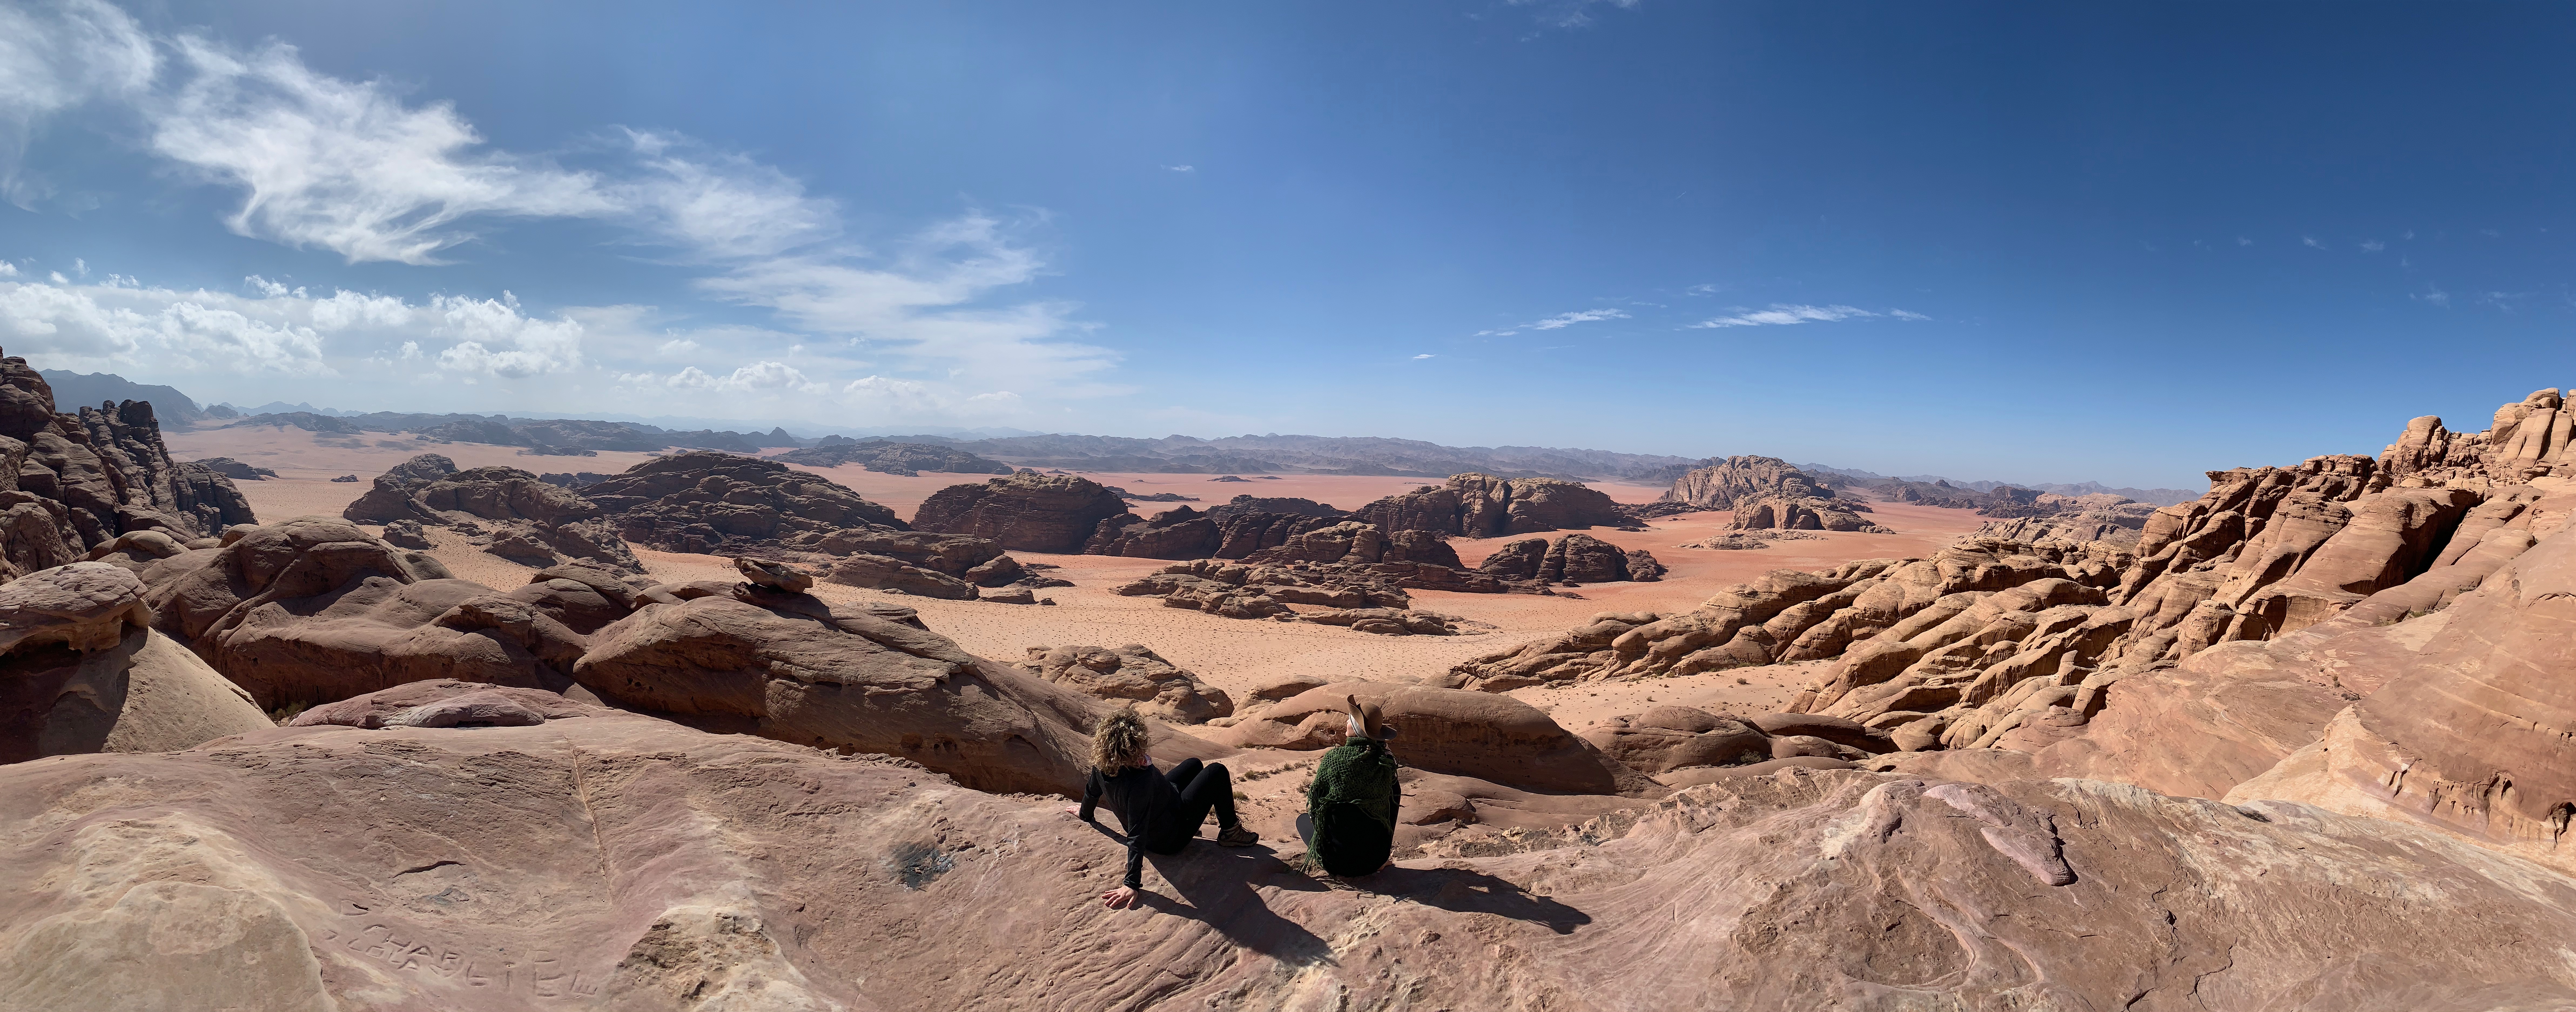
<path fill-rule="evenodd" d="M 170 453 L 180 461 L 232 456 L 276 469 L 278 479 L 237 482 L 263 520 L 283 520 L 307 512 L 340 515 L 350 500 L 368 489 L 368 482 L 376 474 L 410 458 L 412 453 L 446 453 L 459 466 L 500 464 L 528 471 L 600 474 L 616 474 L 649 458 L 647 453 L 600 453 L 580 458 L 518 456 L 518 451 L 507 445 L 415 443 L 379 433 L 368 433 L 363 438 L 314 438 L 314 433 L 276 427 L 167 433 L 165 440 L 170 443 Z M 909 518 L 925 497 L 948 484 L 981 482 L 969 474 L 925 474 L 907 479 L 855 466 L 811 471 L 824 474 L 873 502 L 884 502 L 904 518 Z M 361 482 L 330 482 L 340 474 L 355 474 Z M 1422 479 L 1388 476 L 1283 476 L 1278 482 L 1252 479 L 1244 484 L 1208 482 L 1195 474 L 1084 476 L 1128 492 L 1180 492 L 1200 497 L 1200 502 L 1139 502 L 1136 507 L 1144 515 L 1170 510 L 1175 505 L 1211 507 L 1231 500 L 1234 494 L 1293 494 L 1350 510 L 1376 497 L 1425 484 Z M 1651 502 L 1662 494 L 1662 487 L 1641 484 L 1600 482 L 1595 487 L 1620 502 Z M 1783 541 L 1777 548 L 1762 551 L 1674 548 L 1682 541 L 1698 541 L 1723 530 L 1726 512 L 1690 512 L 1656 520 L 1651 530 L 1641 533 L 1592 530 L 1592 536 L 1623 548 L 1654 551 L 1654 556 L 1672 569 L 1672 574 L 1662 582 L 1587 585 L 1571 590 L 1566 597 L 1458 595 L 1437 590 L 1414 592 L 1414 608 L 1466 615 L 1494 626 L 1492 631 L 1476 636 L 1368 636 L 1337 626 L 1234 621 L 1195 610 L 1162 608 L 1159 597 L 1118 597 L 1110 592 L 1110 587 L 1121 582 L 1167 567 L 1167 561 L 1159 559 L 1048 556 L 1015 551 L 1020 561 L 1059 564 L 1061 569 L 1054 574 L 1074 582 L 1074 587 L 1041 592 L 1041 597 L 1054 597 L 1056 608 L 902 597 L 837 585 L 817 585 L 814 592 L 827 600 L 896 600 L 909 608 L 920 608 L 922 621 L 930 623 L 930 628 L 953 636 L 969 651 L 1002 662 L 1023 659 L 1028 646 L 1146 644 L 1175 664 L 1188 667 L 1216 688 L 1242 698 L 1242 693 L 1255 685 L 1291 675 L 1409 682 L 1440 675 L 1450 664 L 1484 651 L 1556 636 L 1584 623 L 1592 613 L 1677 613 L 1695 608 L 1726 585 L 1759 577 L 1767 569 L 1826 569 L 1850 559 L 1927 556 L 1981 523 L 1981 518 L 1968 510 L 1919 505 L 1873 505 L 1873 520 L 1896 528 L 1899 533 L 1826 533 L 1819 541 Z M 430 538 L 438 543 L 430 554 L 446 561 L 448 569 L 464 579 L 489 587 L 515 587 L 533 572 L 528 567 L 487 556 L 443 530 L 430 530 Z M 1458 556 L 1473 567 L 1504 541 L 1512 538 L 1461 538 L 1453 543 L 1458 546 Z M 647 548 L 636 548 L 636 556 L 657 579 L 734 577 L 732 561 L 721 556 Z M 1561 690 L 1525 688 L 1512 695 L 1548 708 L 1558 724 L 1569 729 L 1584 729 L 1602 716 L 1636 713 L 1659 703 L 1762 713 L 1795 695 L 1806 677 L 1811 677 L 1808 670 L 1759 670 L 1752 677 L 1741 677 L 1747 685 L 1736 685 L 1739 672 L 1716 672 L 1677 680 L 1582 685 Z"/>

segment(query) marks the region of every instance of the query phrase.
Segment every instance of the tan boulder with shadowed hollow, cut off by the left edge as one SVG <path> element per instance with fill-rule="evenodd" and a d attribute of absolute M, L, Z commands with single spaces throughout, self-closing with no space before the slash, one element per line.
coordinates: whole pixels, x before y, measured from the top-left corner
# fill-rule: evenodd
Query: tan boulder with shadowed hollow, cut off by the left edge
<path fill-rule="evenodd" d="M 0 585 L 0 762 L 175 752 L 270 726 L 247 693 L 149 626 L 142 579 L 103 561 Z"/>

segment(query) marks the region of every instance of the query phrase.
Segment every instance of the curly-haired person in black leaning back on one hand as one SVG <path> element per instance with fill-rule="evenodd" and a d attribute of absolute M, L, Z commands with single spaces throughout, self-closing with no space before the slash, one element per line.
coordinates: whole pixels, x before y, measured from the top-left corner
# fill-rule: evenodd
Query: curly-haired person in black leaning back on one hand
<path fill-rule="evenodd" d="M 1082 821 L 1092 821 L 1103 798 L 1118 811 L 1128 837 L 1128 876 L 1123 886 L 1100 894 L 1110 909 L 1139 901 L 1144 852 L 1177 855 L 1198 837 L 1208 811 L 1216 811 L 1218 847 L 1252 847 L 1262 839 L 1234 816 L 1234 778 L 1224 762 L 1180 760 L 1172 773 L 1157 773 L 1154 757 L 1144 752 L 1146 736 L 1133 706 L 1103 718 L 1092 731 L 1092 775 L 1082 780 L 1082 803 L 1064 806 Z"/>

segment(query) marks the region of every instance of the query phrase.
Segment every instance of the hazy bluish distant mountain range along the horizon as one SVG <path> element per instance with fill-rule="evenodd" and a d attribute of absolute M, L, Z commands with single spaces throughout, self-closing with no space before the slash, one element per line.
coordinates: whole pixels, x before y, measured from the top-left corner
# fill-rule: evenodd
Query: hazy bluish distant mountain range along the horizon
<path fill-rule="evenodd" d="M 564 417 L 564 415 L 420 415 L 420 412 L 345 412 L 335 407 L 314 404 L 286 404 L 268 402 L 258 407 L 237 404 L 209 404 L 198 407 L 196 399 L 180 394 L 173 386 L 147 386 L 126 381 L 116 373 L 70 373 L 70 371 L 44 371 L 44 379 L 54 384 L 54 407 L 75 409 L 80 404 L 100 404 L 113 399 L 147 399 L 155 412 L 170 427 L 204 427 L 204 425 L 278 425 L 301 427 L 312 433 L 358 435 L 358 433 L 412 433 L 428 440 L 451 443 L 495 443 L 495 445 L 523 445 L 541 456 L 587 456 L 598 451 L 665 451 L 665 448 L 706 448 L 706 451 L 734 451 L 757 453 L 765 448 L 811 448 L 827 438 L 848 440 L 850 435 L 868 438 L 868 443 L 917 443 L 917 445 L 948 445 L 963 453 L 974 453 L 989 461 L 1002 461 L 1028 469 L 1064 469 L 1064 471 L 1159 471 L 1159 474 L 1370 474 L 1370 476 L 1419 476 L 1419 479 L 1445 479 L 1461 471 L 1484 471 L 1507 479 L 1522 476 L 1548 476 L 1548 479 L 1577 479 L 1577 482 L 1643 482 L 1667 484 L 1695 466 L 1705 466 L 1716 458 L 1687 458 L 1667 453 L 1618 453 L 1618 451 L 1577 451 L 1577 448 L 1548 448 L 1548 445 L 1440 445 L 1425 440 L 1396 440 L 1376 435 L 1226 435 L 1226 438 L 1195 438 L 1195 435 L 1164 435 L 1164 438 L 1123 438 L 1123 435 L 1069 435 L 1069 433 L 1030 433 L 1015 427 L 922 427 L 904 433 L 899 427 L 804 427 L 809 435 L 793 435 L 786 425 L 773 425 L 768 433 L 760 430 L 732 430 L 716 425 L 742 425 L 724 420 L 698 420 L 698 417 Z M 662 425 L 657 425 L 662 422 Z M 1842 476 L 1847 482 L 1888 482 L 1886 474 L 1839 469 L 1829 464 L 1798 464 L 1798 469 L 1819 476 Z M 1901 482 L 1950 482 L 1960 489 L 1991 492 L 1999 487 L 2020 487 L 2058 494 L 2092 494 L 2112 492 L 2125 494 L 2138 502 L 2190 502 L 2200 492 L 2187 489 L 2115 489 L 2099 482 L 2081 484 L 2032 484 L 2032 482 L 1960 482 L 1942 479 L 1935 474 L 1909 474 Z"/>

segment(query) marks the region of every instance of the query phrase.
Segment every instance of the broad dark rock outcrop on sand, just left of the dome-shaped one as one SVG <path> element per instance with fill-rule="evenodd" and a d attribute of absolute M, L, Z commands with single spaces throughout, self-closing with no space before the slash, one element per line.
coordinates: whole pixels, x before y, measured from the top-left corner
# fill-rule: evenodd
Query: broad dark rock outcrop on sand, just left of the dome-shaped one
<path fill-rule="evenodd" d="M 662 551 L 750 551 L 796 536 L 881 525 L 909 530 L 876 502 L 786 464 L 688 451 L 582 487 L 616 530 Z"/>

